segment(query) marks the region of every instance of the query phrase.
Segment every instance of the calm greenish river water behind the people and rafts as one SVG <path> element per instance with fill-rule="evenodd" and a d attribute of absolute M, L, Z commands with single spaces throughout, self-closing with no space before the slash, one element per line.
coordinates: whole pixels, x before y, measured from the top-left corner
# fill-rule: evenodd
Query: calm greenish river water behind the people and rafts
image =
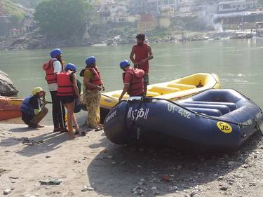
<path fill-rule="evenodd" d="M 86 57 L 94 55 L 107 91 L 123 87 L 119 62 L 128 59 L 130 45 L 62 48 L 65 62 L 78 67 Z M 263 39 L 192 41 L 187 43 L 152 44 L 154 59 L 150 61 L 150 83 L 159 83 L 196 72 L 212 72 L 219 76 L 223 88 L 234 88 L 263 107 L 262 67 Z M 39 50 L 0 51 L 0 70 L 11 77 L 19 97 L 29 95 L 35 86 L 48 90 L 41 69 L 49 60 L 50 48 Z M 80 77 L 79 77 L 80 79 Z M 50 95 L 48 100 L 50 100 Z M 46 121 L 50 123 L 50 113 Z"/>

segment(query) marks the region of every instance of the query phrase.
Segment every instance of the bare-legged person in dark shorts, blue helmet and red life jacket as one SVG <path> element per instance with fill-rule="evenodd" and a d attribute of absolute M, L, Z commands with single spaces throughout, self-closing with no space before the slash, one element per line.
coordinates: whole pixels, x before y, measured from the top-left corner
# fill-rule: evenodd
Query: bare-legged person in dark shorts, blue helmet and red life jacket
<path fill-rule="evenodd" d="M 69 138 L 74 139 L 78 137 L 74 135 L 72 122 L 76 125 L 76 132 L 79 132 L 79 125 L 76 122 L 74 116 L 74 100 L 78 99 L 78 103 L 81 103 L 81 95 L 79 94 L 79 88 L 76 84 L 76 66 L 74 64 L 67 64 L 65 72 L 57 74 L 58 91 L 57 95 L 59 100 L 67 108 L 67 128 L 69 131 Z"/>

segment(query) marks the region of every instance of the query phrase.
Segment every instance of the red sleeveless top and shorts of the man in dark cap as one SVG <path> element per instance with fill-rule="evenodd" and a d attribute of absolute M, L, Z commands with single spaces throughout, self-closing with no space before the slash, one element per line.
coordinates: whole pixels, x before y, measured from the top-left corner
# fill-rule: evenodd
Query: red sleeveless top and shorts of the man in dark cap
<path fill-rule="evenodd" d="M 149 57 L 148 45 L 143 43 L 142 45 L 135 44 L 134 46 L 135 62 L 140 62 Z M 149 61 L 139 65 L 139 69 L 142 69 L 145 73 L 149 72 Z"/>

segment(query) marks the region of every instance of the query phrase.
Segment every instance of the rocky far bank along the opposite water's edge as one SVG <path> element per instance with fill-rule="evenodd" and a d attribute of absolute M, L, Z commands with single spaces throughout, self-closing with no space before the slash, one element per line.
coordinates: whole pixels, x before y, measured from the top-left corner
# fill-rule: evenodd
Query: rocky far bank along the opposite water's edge
<path fill-rule="evenodd" d="M 157 32 L 157 34 L 159 34 Z M 149 43 L 175 43 L 185 41 L 204 41 L 208 39 L 229 39 L 233 37 L 235 32 L 170 32 L 169 34 L 155 35 L 154 32 L 147 34 Z M 124 36 L 116 34 L 108 38 L 90 38 L 83 40 L 50 40 L 46 36 L 32 33 L 8 36 L 8 38 L 0 41 L 0 50 L 22 50 L 36 48 L 54 48 L 54 47 L 71 47 L 71 46 L 103 46 L 103 45 L 120 45 L 135 43 L 135 34 Z"/>

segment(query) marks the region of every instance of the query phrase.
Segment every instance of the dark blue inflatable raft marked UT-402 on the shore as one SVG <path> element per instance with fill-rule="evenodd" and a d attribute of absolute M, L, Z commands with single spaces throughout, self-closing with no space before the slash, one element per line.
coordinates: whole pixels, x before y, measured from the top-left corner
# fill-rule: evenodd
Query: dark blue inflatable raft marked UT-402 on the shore
<path fill-rule="evenodd" d="M 115 144 L 140 140 L 229 151 L 263 129 L 262 123 L 262 109 L 241 93 L 210 89 L 179 102 L 130 97 L 109 112 L 104 133 Z"/>

